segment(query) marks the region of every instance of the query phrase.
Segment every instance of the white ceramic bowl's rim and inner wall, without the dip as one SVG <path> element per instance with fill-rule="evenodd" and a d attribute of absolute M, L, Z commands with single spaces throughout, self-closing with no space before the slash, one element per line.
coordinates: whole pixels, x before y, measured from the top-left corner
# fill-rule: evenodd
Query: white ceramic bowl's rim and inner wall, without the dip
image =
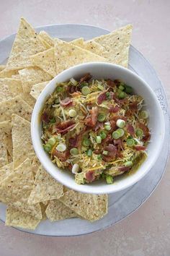
<path fill-rule="evenodd" d="M 55 90 L 57 82 L 66 82 L 71 77 L 80 78 L 83 74 L 90 72 L 90 74 L 97 79 L 110 78 L 120 79 L 126 84 L 133 87 L 135 93 L 141 95 L 146 103 L 146 108 L 149 113 L 149 128 L 151 129 L 151 142 L 147 147 L 148 158 L 146 161 L 130 176 L 120 176 L 119 179 L 113 184 L 106 184 L 103 181 L 94 182 L 91 184 L 76 184 L 74 181 L 74 175 L 68 171 L 63 171 L 56 166 L 50 160 L 45 150 L 42 148 L 41 140 L 41 123 L 40 123 L 40 111 L 44 106 L 46 99 Z M 32 143 L 35 148 L 35 153 L 39 158 L 42 166 L 45 170 L 53 176 L 58 182 L 61 182 L 66 187 L 77 190 L 84 193 L 92 194 L 103 194 L 118 192 L 122 189 L 126 189 L 145 176 L 151 167 L 156 162 L 158 155 L 161 153 L 161 148 L 164 142 L 164 116 L 158 102 L 155 93 L 146 82 L 144 82 L 137 74 L 134 74 L 124 67 L 120 67 L 115 64 L 103 63 L 103 62 L 92 62 L 86 64 L 80 64 L 75 67 L 67 69 L 61 74 L 58 74 L 40 94 L 35 108 L 32 113 L 31 121 L 31 134 Z"/>

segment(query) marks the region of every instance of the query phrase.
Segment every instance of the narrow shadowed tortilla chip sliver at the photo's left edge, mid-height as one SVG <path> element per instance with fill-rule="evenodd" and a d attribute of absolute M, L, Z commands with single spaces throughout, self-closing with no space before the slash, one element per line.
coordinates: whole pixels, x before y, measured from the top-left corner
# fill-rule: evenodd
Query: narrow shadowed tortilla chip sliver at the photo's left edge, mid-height
<path fill-rule="evenodd" d="M 3 136 L 6 150 L 12 156 L 12 124 L 11 121 L 1 121 L 0 133 Z M 9 163 L 9 160 L 8 160 Z"/>

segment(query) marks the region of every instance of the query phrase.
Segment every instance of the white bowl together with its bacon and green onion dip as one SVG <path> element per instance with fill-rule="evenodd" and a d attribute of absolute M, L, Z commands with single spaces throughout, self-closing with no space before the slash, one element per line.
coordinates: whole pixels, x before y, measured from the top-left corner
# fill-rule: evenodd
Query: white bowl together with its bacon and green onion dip
<path fill-rule="evenodd" d="M 32 114 L 42 166 L 79 192 L 117 192 L 135 184 L 153 166 L 163 138 L 155 94 L 114 64 L 81 64 L 58 74 Z"/>

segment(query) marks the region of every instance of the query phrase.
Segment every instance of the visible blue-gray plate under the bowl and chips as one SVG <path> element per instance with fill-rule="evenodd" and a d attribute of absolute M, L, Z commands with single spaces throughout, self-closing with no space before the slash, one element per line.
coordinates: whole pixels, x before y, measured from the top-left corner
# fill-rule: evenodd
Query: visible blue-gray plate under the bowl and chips
<path fill-rule="evenodd" d="M 52 37 L 58 37 L 63 40 L 73 40 L 83 37 L 86 40 L 99 35 L 107 34 L 109 31 L 99 27 L 88 25 L 48 25 L 38 27 L 37 31 L 45 30 Z M 14 41 L 14 35 L 10 35 L 0 41 L 0 64 L 4 64 L 9 56 Z M 164 88 L 158 79 L 156 72 L 151 64 L 137 51 L 130 46 L 129 69 L 142 77 L 148 85 L 155 91 L 158 101 L 164 111 L 166 127 L 169 127 L 169 110 L 166 101 Z M 151 171 L 140 182 L 129 189 L 109 195 L 109 210 L 107 216 L 102 220 L 94 223 L 72 218 L 64 221 L 50 223 L 50 221 L 42 221 L 35 231 L 19 229 L 32 234 L 40 234 L 45 236 L 78 236 L 89 234 L 94 231 L 106 229 L 108 226 L 114 225 L 137 210 L 140 205 L 145 202 L 156 188 L 158 182 L 164 174 L 167 159 L 169 156 L 169 129 L 166 129 L 164 148 L 161 155 L 156 161 Z M 5 221 L 5 205 L 0 204 L 0 219 Z"/>

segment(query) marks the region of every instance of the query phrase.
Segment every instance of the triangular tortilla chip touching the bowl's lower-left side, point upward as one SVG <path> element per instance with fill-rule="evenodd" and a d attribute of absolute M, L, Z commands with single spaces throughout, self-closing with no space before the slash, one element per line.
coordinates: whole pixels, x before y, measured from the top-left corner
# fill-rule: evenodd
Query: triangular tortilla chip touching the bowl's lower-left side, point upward
<path fill-rule="evenodd" d="M 35 184 L 28 203 L 35 204 L 46 200 L 58 199 L 63 196 L 63 185 L 56 182 L 45 169 L 40 166 L 35 176 Z"/>

